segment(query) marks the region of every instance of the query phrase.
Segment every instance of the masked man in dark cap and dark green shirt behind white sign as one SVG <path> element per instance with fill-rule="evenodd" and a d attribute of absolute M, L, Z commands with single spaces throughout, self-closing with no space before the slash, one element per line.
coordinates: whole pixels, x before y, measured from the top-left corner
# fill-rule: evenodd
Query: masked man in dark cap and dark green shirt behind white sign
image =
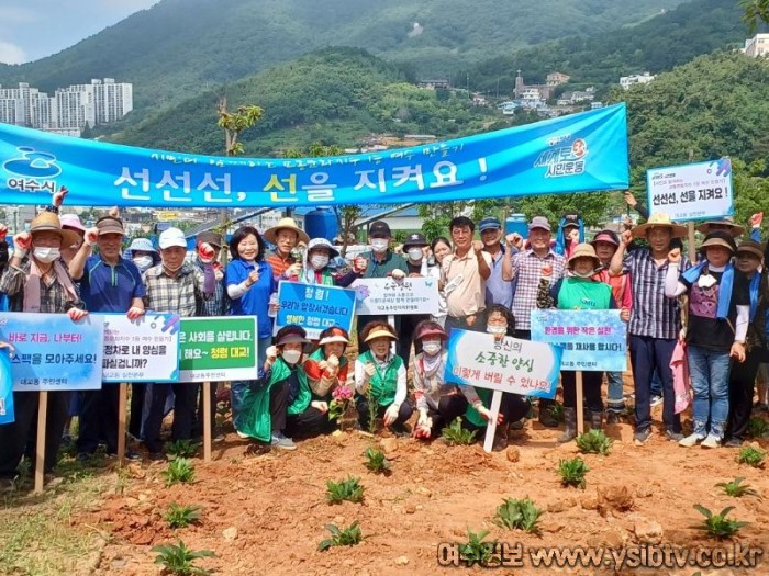
<path fill-rule="evenodd" d="M 366 262 L 366 270 L 364 271 L 361 278 L 392 278 L 393 280 L 403 280 L 409 273 L 409 267 L 405 263 L 405 259 L 397 255 L 391 249 L 392 233 L 390 231 L 390 226 L 384 221 L 377 221 L 371 223 L 368 228 L 368 244 L 371 246 L 370 252 L 364 252 L 360 255 Z M 368 345 L 360 338 L 360 332 L 367 323 L 374 320 L 387 321 L 387 316 L 358 316 L 355 324 L 355 329 L 358 334 L 358 351 L 366 352 L 368 350 Z M 394 329 L 399 330 L 401 326 L 401 316 L 395 315 Z M 411 335 L 403 337 L 403 339 L 398 340 L 397 352 L 399 354 L 403 353 L 403 349 L 408 343 L 411 342 L 409 339 Z"/>

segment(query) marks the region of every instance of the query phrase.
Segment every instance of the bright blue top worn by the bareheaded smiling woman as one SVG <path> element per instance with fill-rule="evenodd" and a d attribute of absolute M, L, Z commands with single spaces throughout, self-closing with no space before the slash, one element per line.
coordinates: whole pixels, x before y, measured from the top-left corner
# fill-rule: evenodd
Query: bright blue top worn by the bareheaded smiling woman
<path fill-rule="evenodd" d="M 269 310 L 269 296 L 278 290 L 272 268 L 264 260 L 255 262 L 259 280 L 239 298 L 230 301 L 230 314 L 233 316 L 256 316 L 259 338 L 272 336 L 272 318 Z M 245 260 L 233 260 L 227 264 L 225 273 L 227 286 L 244 282 L 254 270 L 254 266 Z"/>

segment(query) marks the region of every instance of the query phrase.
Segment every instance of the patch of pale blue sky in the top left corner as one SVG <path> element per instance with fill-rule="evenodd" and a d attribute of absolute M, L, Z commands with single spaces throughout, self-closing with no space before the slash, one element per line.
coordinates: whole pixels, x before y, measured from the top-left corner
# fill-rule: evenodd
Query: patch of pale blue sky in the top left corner
<path fill-rule="evenodd" d="M 51 56 L 159 0 L 1 0 L 0 61 Z"/>

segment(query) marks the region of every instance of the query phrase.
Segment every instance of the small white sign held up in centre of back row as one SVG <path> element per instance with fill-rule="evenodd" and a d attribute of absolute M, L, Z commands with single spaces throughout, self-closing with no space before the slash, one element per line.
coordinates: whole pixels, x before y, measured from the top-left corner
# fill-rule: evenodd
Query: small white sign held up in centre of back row
<path fill-rule="evenodd" d="M 434 278 L 366 278 L 353 282 L 358 316 L 437 314 L 438 281 Z"/>

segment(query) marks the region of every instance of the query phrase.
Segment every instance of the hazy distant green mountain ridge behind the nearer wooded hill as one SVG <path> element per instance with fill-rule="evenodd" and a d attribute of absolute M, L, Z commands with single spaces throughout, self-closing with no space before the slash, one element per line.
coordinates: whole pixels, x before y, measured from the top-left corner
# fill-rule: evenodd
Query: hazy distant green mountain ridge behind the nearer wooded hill
<path fill-rule="evenodd" d="M 134 83 L 137 115 L 327 46 L 364 47 L 419 75 L 566 34 L 598 34 L 680 0 L 163 0 L 59 54 L 0 66 L 53 91 Z"/>

